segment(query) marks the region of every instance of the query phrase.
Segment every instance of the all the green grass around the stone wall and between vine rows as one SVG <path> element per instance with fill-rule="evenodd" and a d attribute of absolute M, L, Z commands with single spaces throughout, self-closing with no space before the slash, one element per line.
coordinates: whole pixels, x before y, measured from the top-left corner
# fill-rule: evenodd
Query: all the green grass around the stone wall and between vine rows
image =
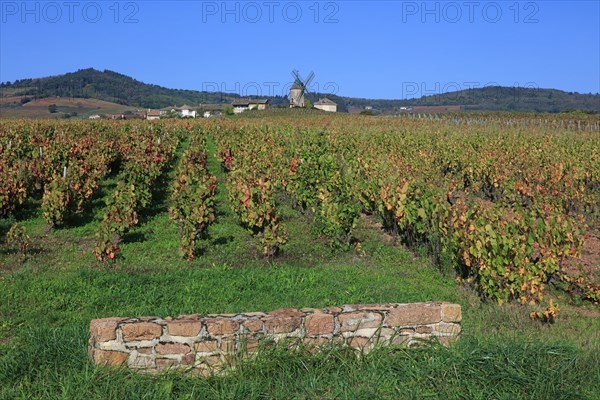
<path fill-rule="evenodd" d="M 355 232 L 364 255 L 332 250 L 286 204 L 290 242 L 282 257 L 265 261 L 229 209 L 218 161 L 209 161 L 219 178 L 218 222 L 191 263 L 177 256 L 177 227 L 167 214 L 172 168 L 116 265 L 91 253 L 114 178 L 88 212 L 61 229 L 46 229 L 39 199 L 17 215 L 33 248 L 20 262 L 0 243 L 0 399 L 600 397 L 596 310 L 565 304 L 558 323 L 532 322 L 526 307 L 482 303 L 426 255 L 386 243 L 365 220 Z M 9 223 L 0 222 L 0 230 Z M 379 349 L 357 357 L 340 348 L 316 355 L 276 348 L 210 378 L 99 368 L 86 354 L 89 321 L 99 317 L 433 300 L 463 306 L 464 333 L 450 349 Z"/>

